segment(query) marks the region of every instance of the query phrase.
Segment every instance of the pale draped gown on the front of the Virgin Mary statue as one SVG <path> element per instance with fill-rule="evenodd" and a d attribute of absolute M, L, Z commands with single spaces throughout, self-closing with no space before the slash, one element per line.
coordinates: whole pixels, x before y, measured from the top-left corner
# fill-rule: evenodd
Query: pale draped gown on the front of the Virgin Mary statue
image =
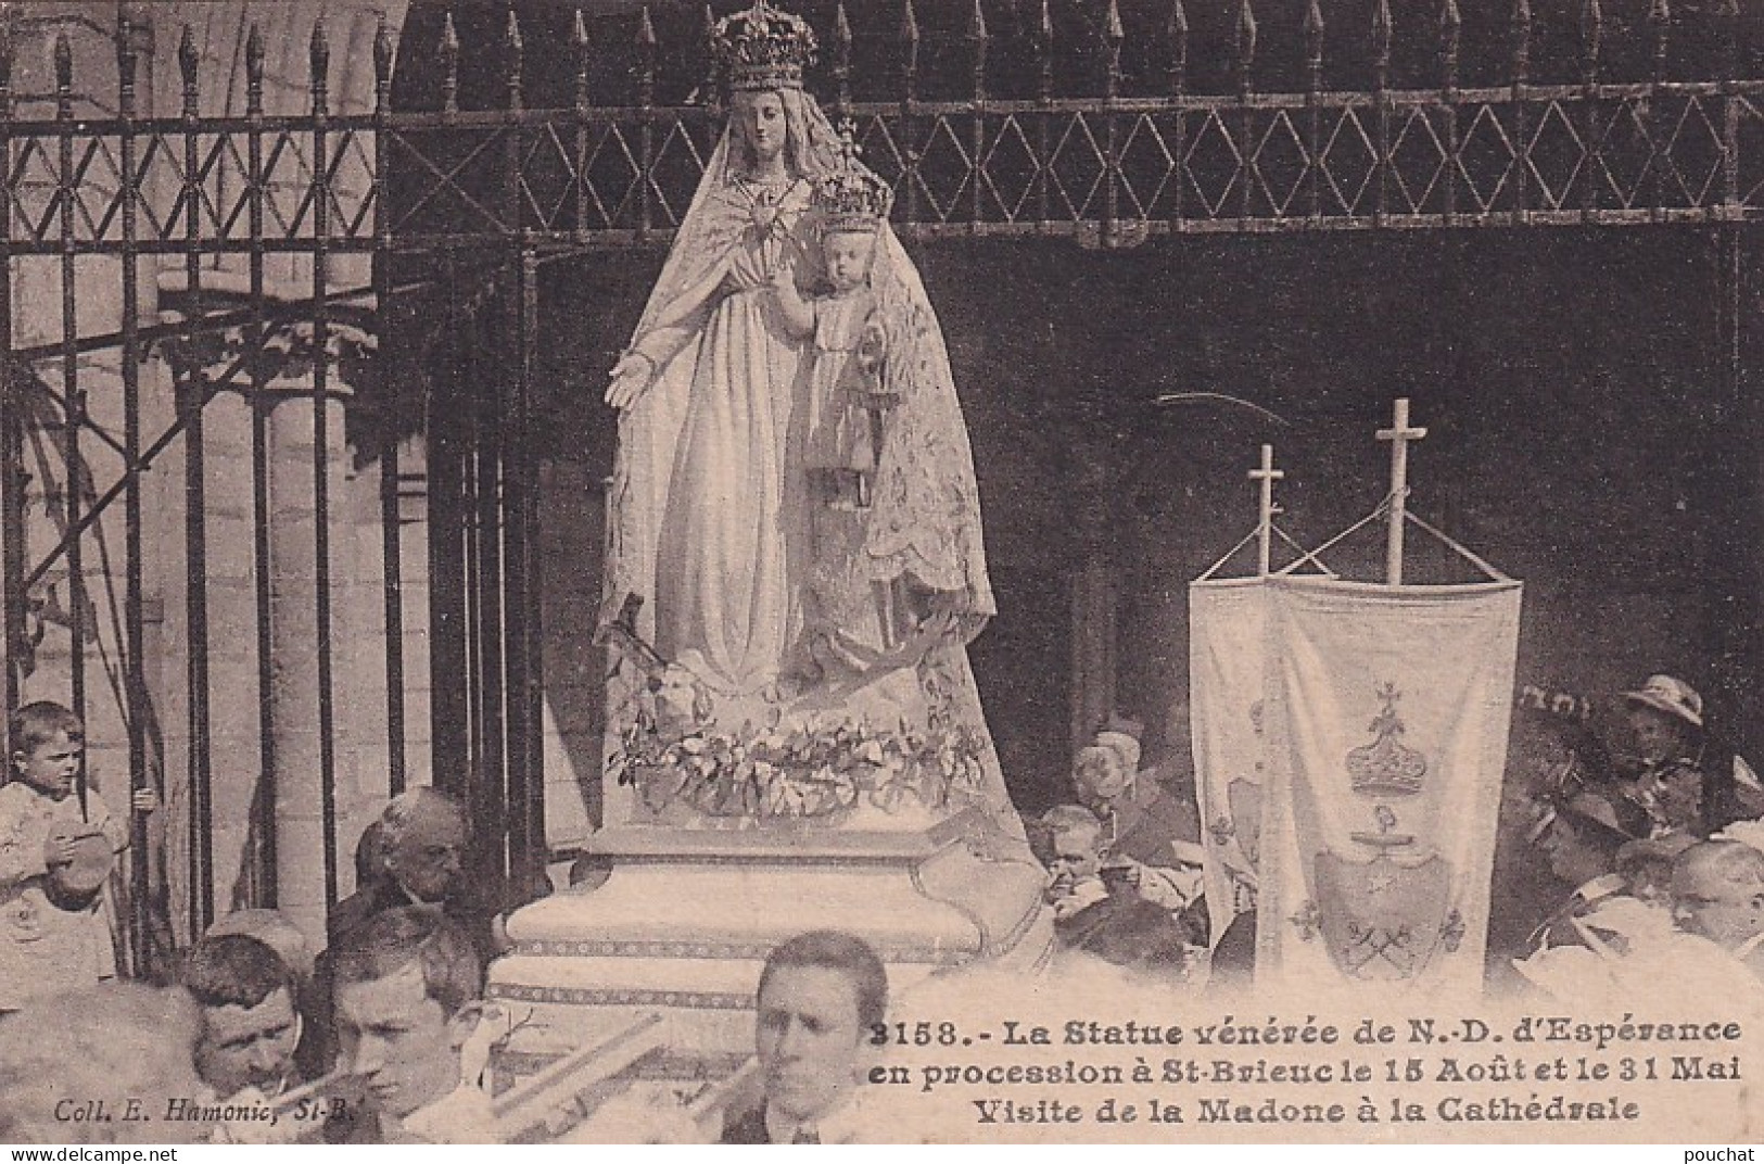
<path fill-rule="evenodd" d="M 721 182 L 699 206 L 721 254 L 635 344 L 669 406 L 684 386 L 654 513 L 654 645 L 725 691 L 776 683 L 801 631 L 804 346 L 771 280 L 804 247 L 806 208 L 801 178 Z"/>

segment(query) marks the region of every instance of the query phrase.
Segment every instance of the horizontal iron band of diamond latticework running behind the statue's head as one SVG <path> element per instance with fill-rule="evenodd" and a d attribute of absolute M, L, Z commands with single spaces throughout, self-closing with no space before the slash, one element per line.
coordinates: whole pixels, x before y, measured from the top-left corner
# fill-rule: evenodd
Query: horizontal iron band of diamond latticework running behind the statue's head
<path fill-rule="evenodd" d="M 1667 79 L 1671 25 L 1656 0 L 1649 81 L 1603 81 L 1596 0 L 1582 23 L 1582 79 L 1529 81 L 1529 12 L 1514 16 L 1512 79 L 1457 85 L 1457 16 L 1438 28 L 1434 88 L 1387 88 L 1392 30 L 1378 5 L 1372 85 L 1323 86 L 1316 0 L 1305 19 L 1305 76 L 1263 92 L 1252 85 L 1256 19 L 1238 4 L 1237 92 L 1185 92 L 1185 21 L 1171 23 L 1162 95 L 1120 95 L 1118 16 L 1102 21 L 1102 76 L 1041 71 L 1032 99 L 988 97 L 986 25 L 968 32 L 972 93 L 921 101 L 910 5 L 901 30 L 900 99 L 850 101 L 850 30 L 834 30 L 831 106 L 850 116 L 864 160 L 896 189 L 896 228 L 908 236 L 1080 235 L 1132 242 L 1147 235 L 1284 229 L 1450 228 L 1748 220 L 1764 210 L 1764 79 Z M 1720 16 L 1711 18 L 1720 19 Z M 519 41 L 519 28 L 510 30 Z M 1037 37 L 1051 53 L 1051 25 Z M 587 35 L 577 21 L 579 101 L 524 108 L 520 56 L 497 49 L 512 76 L 501 109 L 457 104 L 459 42 L 445 34 L 443 108 L 330 115 L 325 153 L 303 116 L 9 120 L 5 198 L 12 254 L 111 254 L 122 245 L 125 189 L 139 210 L 131 249 L 148 252 L 310 252 L 328 219 L 330 252 L 372 250 L 374 166 L 402 176 L 386 233 L 395 249 L 476 245 L 628 245 L 665 238 L 702 176 L 720 118 L 700 106 L 656 106 L 654 34 L 633 46 L 632 104 L 587 104 Z M 1727 69 L 1738 55 L 1727 53 Z M 1048 56 L 1051 63 L 1051 56 Z M 1715 62 L 1720 65 L 1722 62 Z M 1720 71 L 1720 69 L 1718 69 Z M 1090 92 L 1067 95 L 1060 83 Z M 192 134 L 194 129 L 194 134 Z M 123 132 L 136 160 L 125 182 Z M 377 143 L 376 136 L 383 138 Z M 185 148 L 194 138 L 196 173 Z M 71 150 L 65 150 L 71 146 Z M 250 150 L 259 152 L 254 171 Z M 65 164 L 64 164 L 64 153 Z M 318 162 L 318 164 L 316 164 Z M 515 173 L 510 169 L 515 168 Z M 318 173 L 316 173 L 318 171 Z M 164 178 L 164 180 L 161 180 Z M 513 185 L 517 198 L 506 192 Z M 155 198 L 153 190 L 166 190 Z M 196 201 L 194 238 L 189 199 Z M 263 235 L 250 210 L 261 199 Z M 323 206 L 319 201 L 323 199 Z M 62 210 L 72 212 L 71 233 Z"/>

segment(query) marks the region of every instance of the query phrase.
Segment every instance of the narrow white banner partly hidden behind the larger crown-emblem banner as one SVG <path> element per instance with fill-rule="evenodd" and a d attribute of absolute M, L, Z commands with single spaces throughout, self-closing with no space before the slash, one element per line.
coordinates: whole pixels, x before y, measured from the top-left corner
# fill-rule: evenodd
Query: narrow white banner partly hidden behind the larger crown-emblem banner
<path fill-rule="evenodd" d="M 1256 908 L 1267 596 L 1263 578 L 1189 584 L 1189 734 L 1214 942 Z"/>

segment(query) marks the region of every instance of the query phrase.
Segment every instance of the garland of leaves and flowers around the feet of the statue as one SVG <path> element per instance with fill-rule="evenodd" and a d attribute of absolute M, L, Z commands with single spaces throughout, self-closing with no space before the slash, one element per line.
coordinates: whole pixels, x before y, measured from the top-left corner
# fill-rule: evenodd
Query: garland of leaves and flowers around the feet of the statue
<path fill-rule="evenodd" d="M 662 716 L 663 723 L 667 716 Z M 640 709 L 607 758 L 640 822 L 693 829 L 930 825 L 981 804 L 984 741 L 968 727 L 873 728 L 806 718 L 681 730 Z"/>

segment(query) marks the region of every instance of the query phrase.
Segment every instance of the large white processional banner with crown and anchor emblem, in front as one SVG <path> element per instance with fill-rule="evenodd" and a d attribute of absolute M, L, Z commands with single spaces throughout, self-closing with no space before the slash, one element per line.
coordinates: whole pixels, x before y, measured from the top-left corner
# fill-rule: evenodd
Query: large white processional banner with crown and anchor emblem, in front
<path fill-rule="evenodd" d="M 1265 589 L 1258 984 L 1478 991 L 1519 582 Z"/>

